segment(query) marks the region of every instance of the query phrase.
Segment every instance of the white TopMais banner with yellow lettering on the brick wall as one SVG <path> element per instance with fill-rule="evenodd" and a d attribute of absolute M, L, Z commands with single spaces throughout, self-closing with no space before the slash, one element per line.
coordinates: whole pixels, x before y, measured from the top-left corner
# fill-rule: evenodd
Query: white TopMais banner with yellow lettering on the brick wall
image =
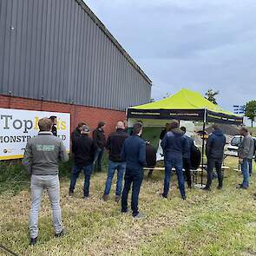
<path fill-rule="evenodd" d="M 38 121 L 56 115 L 57 135 L 69 152 L 70 114 L 0 108 L 0 161 L 23 158 L 24 148 L 38 134 Z"/>

